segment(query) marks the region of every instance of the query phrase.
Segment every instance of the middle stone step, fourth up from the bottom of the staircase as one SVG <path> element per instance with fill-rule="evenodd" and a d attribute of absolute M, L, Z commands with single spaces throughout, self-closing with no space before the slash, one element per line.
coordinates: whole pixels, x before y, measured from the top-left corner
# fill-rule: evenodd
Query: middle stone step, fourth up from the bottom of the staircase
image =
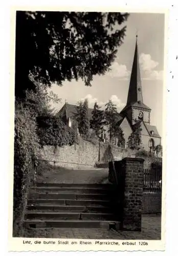
<path fill-rule="evenodd" d="M 30 199 L 28 205 L 78 205 L 78 206 L 109 206 L 111 203 L 107 200 L 65 200 L 65 199 Z"/>

